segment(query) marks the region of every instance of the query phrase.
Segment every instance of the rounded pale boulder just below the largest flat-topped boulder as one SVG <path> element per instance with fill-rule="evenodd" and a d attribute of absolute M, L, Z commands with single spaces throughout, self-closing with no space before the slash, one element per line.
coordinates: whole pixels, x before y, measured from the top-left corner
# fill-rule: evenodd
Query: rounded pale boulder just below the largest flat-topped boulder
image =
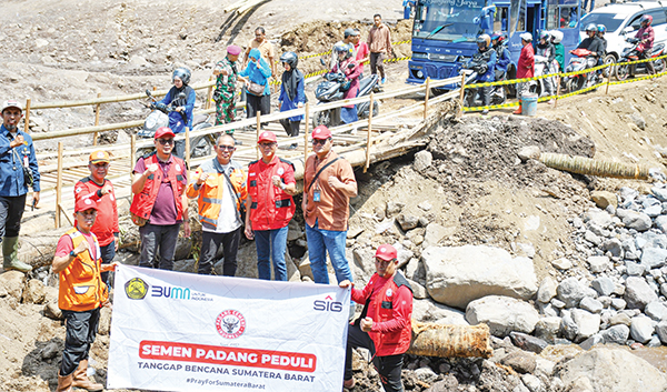
<path fill-rule="evenodd" d="M 488 295 L 468 304 L 466 320 L 472 325 L 485 323 L 492 335 L 505 338 L 512 331 L 531 333 L 539 321 L 539 313 L 527 302 Z"/>

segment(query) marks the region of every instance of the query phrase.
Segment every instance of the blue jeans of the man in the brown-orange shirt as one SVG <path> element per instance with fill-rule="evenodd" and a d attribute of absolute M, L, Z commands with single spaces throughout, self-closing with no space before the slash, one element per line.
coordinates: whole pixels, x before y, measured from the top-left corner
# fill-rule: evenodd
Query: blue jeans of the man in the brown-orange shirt
<path fill-rule="evenodd" d="M 354 282 L 352 272 L 345 258 L 347 230 L 322 230 L 318 228 L 318 222 L 316 221 L 315 227 L 312 228 L 306 223 L 306 239 L 308 241 L 310 270 L 312 271 L 312 279 L 316 283 L 329 284 L 327 251 L 329 252 L 329 259 L 331 259 L 334 271 L 336 271 L 338 283 L 346 279 Z"/>

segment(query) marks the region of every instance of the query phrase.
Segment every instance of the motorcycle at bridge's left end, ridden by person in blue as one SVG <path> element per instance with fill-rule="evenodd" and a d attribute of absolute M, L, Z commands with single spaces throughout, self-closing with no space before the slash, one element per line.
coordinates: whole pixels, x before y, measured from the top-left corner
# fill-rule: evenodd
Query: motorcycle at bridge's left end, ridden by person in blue
<path fill-rule="evenodd" d="M 169 127 L 169 113 L 175 111 L 176 108 L 171 104 L 159 103 L 149 90 L 146 90 L 146 96 L 151 99 L 151 103 L 147 107 L 151 108 L 152 111 L 143 121 L 143 127 L 141 130 L 139 130 L 139 132 L 137 132 L 137 137 L 140 139 L 153 139 L 156 131 L 159 128 Z M 181 92 L 177 96 L 177 98 L 186 98 L 186 94 Z M 208 114 L 195 115 L 192 119 L 192 131 L 213 127 L 210 122 L 208 122 L 209 120 L 210 115 Z M 219 133 L 209 133 L 190 139 L 190 158 L 210 155 L 212 147 L 216 144 L 218 134 Z M 137 157 L 143 157 L 151 153 L 155 147 L 142 147 L 137 150 Z"/>

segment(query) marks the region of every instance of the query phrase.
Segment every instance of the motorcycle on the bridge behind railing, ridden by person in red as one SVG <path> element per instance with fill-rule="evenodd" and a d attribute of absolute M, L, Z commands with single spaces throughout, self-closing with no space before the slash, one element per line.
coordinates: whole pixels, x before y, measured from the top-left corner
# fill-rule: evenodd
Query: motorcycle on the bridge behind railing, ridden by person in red
<path fill-rule="evenodd" d="M 317 104 L 340 101 L 345 97 L 345 92 L 350 86 L 350 81 L 346 80 L 342 72 L 329 72 L 323 76 L 325 81 L 320 82 L 315 88 L 315 98 L 319 101 Z M 379 77 L 370 74 L 359 80 L 359 92 L 357 97 L 370 94 L 371 91 L 379 92 Z M 378 115 L 380 112 L 380 101 L 374 101 L 372 115 Z M 361 102 L 357 104 L 357 117 L 367 119 L 370 114 L 370 102 Z M 315 113 L 312 117 L 312 127 L 327 125 L 337 127 L 342 123 L 340 119 L 340 108 L 322 110 Z"/>

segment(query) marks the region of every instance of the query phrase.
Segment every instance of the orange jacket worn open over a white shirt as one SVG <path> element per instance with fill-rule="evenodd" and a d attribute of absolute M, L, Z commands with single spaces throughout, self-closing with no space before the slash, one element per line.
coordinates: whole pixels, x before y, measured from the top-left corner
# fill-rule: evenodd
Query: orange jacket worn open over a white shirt
<path fill-rule="evenodd" d="M 218 217 L 220 215 L 220 209 L 222 208 L 222 195 L 230 190 L 225 174 L 217 169 L 219 164 L 217 164 L 216 160 L 217 158 L 213 158 L 213 161 L 205 162 L 197 168 L 195 180 L 188 184 L 188 189 L 186 190 L 188 198 L 198 198 L 199 221 L 203 228 L 211 230 L 216 230 L 218 227 Z M 241 170 L 241 167 L 233 161 L 231 161 L 231 168 L 232 171 L 229 175 L 229 180 L 236 192 L 237 211 L 240 211 L 241 205 L 246 202 L 246 197 L 248 195 L 246 174 Z M 201 184 L 201 188 L 196 189 L 197 180 L 202 173 L 208 173 L 209 177 Z M 232 197 L 232 200 L 233 199 L 235 198 Z"/>

